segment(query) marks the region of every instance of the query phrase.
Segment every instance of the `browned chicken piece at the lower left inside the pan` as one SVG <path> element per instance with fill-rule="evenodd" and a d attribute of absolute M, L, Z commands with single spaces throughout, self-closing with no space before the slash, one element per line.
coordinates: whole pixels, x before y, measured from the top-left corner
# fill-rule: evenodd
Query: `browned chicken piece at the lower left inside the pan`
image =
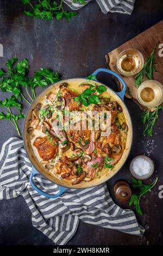
<path fill-rule="evenodd" d="M 45 161 L 52 159 L 56 154 L 58 154 L 58 144 L 56 138 L 49 141 L 47 136 L 37 137 L 33 145 L 37 148 L 40 157 Z"/>

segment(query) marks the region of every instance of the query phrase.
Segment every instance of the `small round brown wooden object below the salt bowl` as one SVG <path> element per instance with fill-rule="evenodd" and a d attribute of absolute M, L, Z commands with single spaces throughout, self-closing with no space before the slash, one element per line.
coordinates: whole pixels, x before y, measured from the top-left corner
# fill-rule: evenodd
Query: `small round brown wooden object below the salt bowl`
<path fill-rule="evenodd" d="M 114 184 L 114 193 L 115 197 L 122 202 L 128 201 L 132 195 L 130 186 L 127 184 L 126 181 L 122 180 L 118 180 Z"/>

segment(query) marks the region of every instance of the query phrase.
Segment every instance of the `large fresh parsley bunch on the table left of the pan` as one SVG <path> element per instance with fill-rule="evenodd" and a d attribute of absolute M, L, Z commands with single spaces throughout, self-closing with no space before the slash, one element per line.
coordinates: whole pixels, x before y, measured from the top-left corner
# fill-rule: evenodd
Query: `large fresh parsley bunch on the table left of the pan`
<path fill-rule="evenodd" d="M 34 72 L 32 78 L 29 78 L 27 76 L 29 72 L 28 60 L 23 59 L 17 63 L 16 62 L 17 57 L 14 56 L 6 63 L 8 68 L 7 71 L 0 69 L 0 88 L 2 92 L 14 94 L 4 101 L 0 101 L 0 106 L 8 109 L 8 112 L 6 113 L 0 112 L 0 119 L 8 119 L 17 130 L 18 135 L 20 135 L 17 121 L 20 118 L 24 118 L 24 114 L 21 113 L 22 99 L 30 104 L 36 97 L 35 88 L 37 86 L 45 87 L 59 81 L 59 74 L 57 71 L 53 72 L 46 68 L 40 68 L 39 71 Z M 23 94 L 22 87 L 26 87 L 26 93 L 29 99 Z M 19 99 L 20 102 L 17 99 Z M 17 107 L 20 113 L 13 114 L 11 107 Z"/>

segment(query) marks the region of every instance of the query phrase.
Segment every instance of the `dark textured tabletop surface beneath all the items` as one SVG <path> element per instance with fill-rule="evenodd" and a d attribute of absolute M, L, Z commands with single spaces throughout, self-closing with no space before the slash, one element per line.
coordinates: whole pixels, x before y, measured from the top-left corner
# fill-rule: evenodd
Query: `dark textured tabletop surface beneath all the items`
<path fill-rule="evenodd" d="M 62 78 L 85 77 L 97 68 L 105 67 L 105 54 L 123 44 L 135 35 L 162 20 L 163 2 L 161 0 L 135 1 L 132 15 L 103 14 L 93 1 L 79 11 L 70 22 L 45 21 L 33 19 L 23 14 L 24 6 L 19 0 L 0 0 L 0 44 L 4 47 L 4 57 L 0 57 L 2 68 L 6 60 L 14 54 L 27 58 L 31 73 L 45 66 L 57 69 Z M 163 35 L 162 35 L 163 42 Z M 106 84 L 114 84 L 106 76 L 100 77 Z M 37 89 L 37 95 L 41 88 Z M 5 94 L 1 93 L 1 99 Z M 158 197 L 158 187 L 163 185 L 162 178 L 162 117 L 155 125 L 152 138 L 142 135 L 140 109 L 135 103 L 125 100 L 134 126 L 133 146 L 121 171 L 108 181 L 112 195 L 112 185 L 118 179 L 131 180 L 129 163 L 136 155 L 146 154 L 153 159 L 155 175 L 159 182 L 147 197 L 142 199 L 144 214 L 137 216 L 146 228 L 143 237 L 136 237 L 96 227 L 80 222 L 76 235 L 68 245 L 159 245 L 163 243 L 163 199 Z M 28 106 L 24 103 L 23 112 Z M 19 123 L 23 127 L 23 121 Z M 17 136 L 8 121 L 1 121 L 1 146 L 11 136 Z M 150 180 L 149 180 L 150 181 Z M 148 181 L 147 181 L 148 182 Z M 112 198 L 114 196 L 112 195 Z M 115 199 L 115 198 L 114 198 Z M 117 202 L 115 200 L 115 202 Z M 127 204 L 121 204 L 128 208 Z M 0 245 L 52 245 L 31 223 L 31 214 L 24 199 L 0 201 Z"/>

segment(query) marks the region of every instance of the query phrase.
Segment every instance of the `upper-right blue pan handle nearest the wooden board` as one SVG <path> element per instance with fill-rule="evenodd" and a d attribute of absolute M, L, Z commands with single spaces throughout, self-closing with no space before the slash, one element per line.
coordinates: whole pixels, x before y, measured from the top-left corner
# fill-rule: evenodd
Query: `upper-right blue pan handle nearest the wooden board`
<path fill-rule="evenodd" d="M 126 85 L 126 82 L 124 82 L 123 78 L 120 75 L 118 75 L 116 72 L 114 72 L 114 71 L 112 71 L 110 69 L 104 69 L 104 68 L 97 69 L 95 72 L 92 73 L 92 75 L 97 76 L 97 74 L 99 72 L 106 72 L 108 74 L 111 74 L 111 75 L 115 76 L 122 83 L 123 89 L 121 90 L 121 92 L 116 93 L 116 94 L 118 96 L 120 96 L 120 98 L 122 100 L 124 100 L 124 94 L 126 93 L 127 85 Z M 94 78 L 94 80 L 98 81 L 97 78 Z"/>

